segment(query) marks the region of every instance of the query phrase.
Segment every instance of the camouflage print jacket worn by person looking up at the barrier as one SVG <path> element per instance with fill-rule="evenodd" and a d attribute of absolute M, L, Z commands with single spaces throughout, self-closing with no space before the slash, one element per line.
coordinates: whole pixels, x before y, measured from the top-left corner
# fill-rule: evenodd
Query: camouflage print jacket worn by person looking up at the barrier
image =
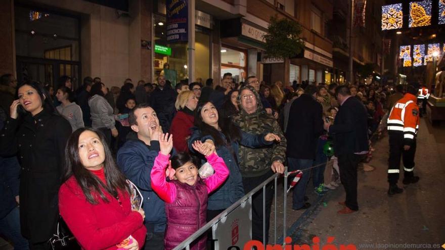
<path fill-rule="evenodd" d="M 241 108 L 241 96 L 238 96 L 240 113 L 232 118 L 233 122 L 238 125 L 241 130 L 248 133 L 275 133 L 281 137 L 280 142 L 274 142 L 272 145 L 259 148 L 240 145 L 238 152 L 241 175 L 243 177 L 258 177 L 271 171 L 271 166 L 274 161 L 280 161 L 284 164 L 286 160 L 286 137 L 284 137 L 278 121 L 263 110 L 261 99 L 251 86 L 241 88 L 240 94 L 245 88 L 248 88 L 255 94 L 258 107 L 256 112 L 247 114 Z"/>

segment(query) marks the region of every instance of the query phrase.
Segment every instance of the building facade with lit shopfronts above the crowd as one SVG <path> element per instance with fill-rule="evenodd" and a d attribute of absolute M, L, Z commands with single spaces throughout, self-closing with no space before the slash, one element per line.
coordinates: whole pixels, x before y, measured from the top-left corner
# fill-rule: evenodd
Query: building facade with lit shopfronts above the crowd
<path fill-rule="evenodd" d="M 219 83 L 227 72 L 237 81 L 249 75 L 268 83 L 334 80 L 333 42 L 325 35 L 332 0 L 188 0 L 188 39 L 182 41 L 173 41 L 183 30 L 167 18 L 167 4 L 177 1 L 1 1 L 0 73 L 19 81 L 56 86 L 69 75 L 77 86 L 92 76 L 121 86 L 126 78 L 156 82 L 164 75 L 173 84 Z M 275 15 L 302 25 L 301 55 L 263 59 L 262 35 Z"/>

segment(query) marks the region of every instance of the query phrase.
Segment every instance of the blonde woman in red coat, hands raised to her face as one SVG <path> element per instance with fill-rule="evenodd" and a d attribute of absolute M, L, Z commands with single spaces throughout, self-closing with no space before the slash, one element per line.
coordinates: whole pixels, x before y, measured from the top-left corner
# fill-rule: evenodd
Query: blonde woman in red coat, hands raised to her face
<path fill-rule="evenodd" d="M 177 95 L 174 107 L 178 111 L 170 126 L 170 134 L 174 136 L 173 147 L 177 152 L 189 152 L 189 139 L 194 122 L 194 111 L 198 105 L 198 98 L 193 91 L 182 91 Z"/>

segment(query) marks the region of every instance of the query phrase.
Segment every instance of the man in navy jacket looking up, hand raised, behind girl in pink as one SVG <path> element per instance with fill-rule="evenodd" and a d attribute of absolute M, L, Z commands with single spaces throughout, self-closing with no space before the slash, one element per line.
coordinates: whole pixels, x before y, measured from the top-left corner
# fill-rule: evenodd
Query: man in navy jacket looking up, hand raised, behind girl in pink
<path fill-rule="evenodd" d="M 164 248 L 166 225 L 165 203 L 151 188 L 150 173 L 159 154 L 159 120 L 147 104 L 139 104 L 128 115 L 131 129 L 137 134 L 127 136 L 127 141 L 117 152 L 117 164 L 125 176 L 140 189 L 144 197 L 147 238 L 144 249 Z M 142 246 L 142 244 L 140 243 Z"/>

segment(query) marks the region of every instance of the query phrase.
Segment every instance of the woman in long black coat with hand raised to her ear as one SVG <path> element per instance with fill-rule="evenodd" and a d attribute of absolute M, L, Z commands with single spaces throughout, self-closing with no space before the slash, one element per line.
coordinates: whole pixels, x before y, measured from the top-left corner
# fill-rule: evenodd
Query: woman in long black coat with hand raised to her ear
<path fill-rule="evenodd" d="M 37 82 L 22 83 L 0 133 L 0 155 L 19 158 L 20 226 L 33 249 L 47 249 L 59 216 L 57 193 L 65 162 L 70 123 Z"/>

